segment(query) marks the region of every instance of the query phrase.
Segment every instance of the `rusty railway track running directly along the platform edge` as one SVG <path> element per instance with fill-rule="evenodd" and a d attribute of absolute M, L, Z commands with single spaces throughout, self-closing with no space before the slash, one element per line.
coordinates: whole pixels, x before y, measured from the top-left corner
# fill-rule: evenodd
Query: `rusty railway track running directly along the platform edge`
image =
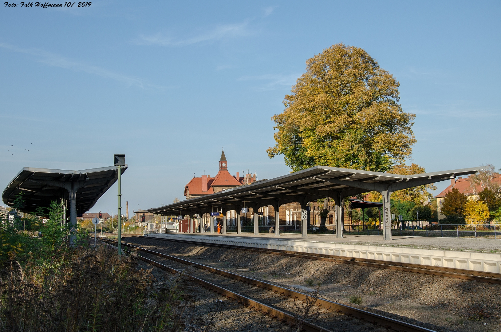
<path fill-rule="evenodd" d="M 145 236 L 138 236 L 140 238 L 148 238 Z M 450 277 L 456 279 L 465 279 L 470 281 L 479 281 L 487 283 L 498 283 L 501 284 L 501 273 L 493 272 L 483 272 L 483 271 L 473 271 L 465 270 L 460 268 L 442 267 L 442 266 L 431 266 L 431 265 L 421 265 L 412 263 L 402 263 L 402 262 L 389 262 L 386 260 L 370 259 L 370 258 L 356 258 L 356 257 L 343 257 L 336 255 L 326 255 L 326 254 L 316 254 L 309 252 L 296 252 L 287 251 L 279 249 L 267 249 L 267 248 L 249 248 L 238 245 L 226 245 L 226 244 L 213 244 L 213 243 L 201 243 L 196 241 L 184 241 L 184 240 L 174 240 L 174 239 L 162 239 L 162 238 L 152 238 L 155 240 L 170 241 L 170 242 L 180 242 L 185 244 L 194 244 L 199 246 L 212 246 L 221 248 L 231 248 L 237 250 L 253 251 L 260 253 L 268 253 L 274 255 L 283 255 L 289 257 L 316 259 L 316 260 L 326 260 L 337 263 L 362 265 L 375 268 L 385 268 L 396 271 L 405 271 L 429 275 L 438 275 L 443 277 Z"/>

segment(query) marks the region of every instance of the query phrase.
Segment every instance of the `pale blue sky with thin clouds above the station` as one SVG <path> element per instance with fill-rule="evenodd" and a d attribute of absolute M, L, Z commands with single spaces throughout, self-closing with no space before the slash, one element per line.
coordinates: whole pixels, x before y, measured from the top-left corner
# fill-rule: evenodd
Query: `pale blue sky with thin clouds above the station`
<path fill-rule="evenodd" d="M 501 167 L 499 2 L 77 4 L 0 9 L 2 190 L 22 167 L 103 167 L 125 153 L 132 212 L 184 199 L 193 173 L 216 174 L 222 146 L 232 174 L 284 175 L 266 154 L 270 118 L 305 61 L 336 43 L 400 82 L 416 114 L 409 163 Z M 116 206 L 114 185 L 91 211 Z"/>

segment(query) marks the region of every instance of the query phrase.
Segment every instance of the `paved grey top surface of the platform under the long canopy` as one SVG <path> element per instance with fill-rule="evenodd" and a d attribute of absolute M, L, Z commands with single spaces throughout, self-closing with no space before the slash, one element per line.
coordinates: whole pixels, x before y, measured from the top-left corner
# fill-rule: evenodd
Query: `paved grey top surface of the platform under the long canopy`
<path fill-rule="evenodd" d="M 391 241 L 383 240 L 382 235 L 354 235 L 344 234 L 343 238 L 337 238 L 334 234 L 308 234 L 307 237 L 302 237 L 301 234 L 282 233 L 280 236 L 274 233 L 227 233 L 227 234 L 210 234 L 210 233 L 170 233 L 170 234 L 186 234 L 196 236 L 242 236 L 252 238 L 266 238 L 274 240 L 301 240 L 313 242 L 327 243 L 344 243 L 344 244 L 361 244 L 361 245 L 377 245 L 389 247 L 403 248 L 420 248 L 420 249 L 443 249 L 443 250 L 460 250 L 472 252 L 488 252 L 501 253 L 501 236 L 499 239 L 490 238 L 471 238 L 471 237 L 435 237 L 435 236 L 393 236 Z"/>

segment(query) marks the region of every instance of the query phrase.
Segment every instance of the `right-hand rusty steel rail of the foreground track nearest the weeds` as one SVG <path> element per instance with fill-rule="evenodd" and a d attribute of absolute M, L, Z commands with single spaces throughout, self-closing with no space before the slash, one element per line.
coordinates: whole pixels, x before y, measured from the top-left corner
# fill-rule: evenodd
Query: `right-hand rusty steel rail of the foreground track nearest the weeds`
<path fill-rule="evenodd" d="M 107 242 L 108 241 L 111 241 L 113 243 L 116 242 L 114 240 L 107 239 Z M 192 261 L 189 261 L 189 260 L 186 260 L 186 259 L 182 259 L 182 258 L 179 258 L 179 257 L 175 257 L 175 256 L 163 254 L 163 253 L 160 253 L 160 252 L 156 252 L 156 251 L 153 251 L 153 250 L 145 249 L 145 248 L 142 248 L 140 246 L 135 246 L 135 245 L 128 244 L 128 243 L 122 243 L 122 245 L 126 245 L 128 247 L 135 248 L 135 249 L 137 249 L 139 251 L 143 251 L 143 252 L 146 252 L 146 253 L 149 253 L 149 254 L 152 254 L 152 255 L 156 255 L 156 256 L 159 256 L 159 257 L 163 257 L 163 258 L 171 259 L 171 260 L 174 260 L 174 261 L 177 261 L 177 262 L 181 262 L 183 264 L 192 265 L 192 266 L 195 266 L 195 267 L 198 267 L 198 268 L 201 268 L 201 269 L 205 269 L 205 270 L 217 273 L 219 275 L 223 275 L 223 276 L 226 276 L 226 277 L 238 280 L 238 281 L 242 281 L 242 282 L 246 282 L 246 283 L 249 283 L 249 284 L 253 284 L 255 286 L 262 287 L 262 288 L 265 288 L 265 289 L 268 289 L 268 290 L 271 290 L 271 291 L 274 291 L 274 292 L 279 292 L 280 294 L 291 296 L 293 298 L 297 297 L 297 298 L 305 299 L 308 296 L 307 294 L 299 292 L 299 291 L 296 291 L 296 290 L 292 290 L 292 289 L 289 289 L 289 288 L 281 287 L 281 286 L 278 286 L 278 285 L 275 285 L 275 284 L 272 284 L 272 283 L 268 283 L 268 282 L 265 282 L 265 281 L 261 281 L 261 280 L 249 278 L 249 277 L 246 277 L 246 276 L 243 276 L 243 275 L 240 275 L 240 274 L 236 274 L 236 273 L 232 273 L 232 272 L 220 270 L 220 269 L 217 269 L 217 268 L 214 268 L 214 267 L 211 267 L 211 266 L 207 266 L 207 265 L 195 263 L 195 262 L 192 262 Z M 373 312 L 370 312 L 370 311 L 358 309 L 358 308 L 355 308 L 355 307 L 352 307 L 352 306 L 349 306 L 349 305 L 345 305 L 345 304 L 341 304 L 341 303 L 338 303 L 338 302 L 330 301 L 330 300 L 327 300 L 327 299 L 324 299 L 324 298 L 320 298 L 320 297 L 317 299 L 316 305 L 322 306 L 322 307 L 327 308 L 327 309 L 332 309 L 332 310 L 335 310 L 337 312 L 343 312 L 345 314 L 352 315 L 352 316 L 354 316 L 356 318 L 369 321 L 369 322 L 371 322 L 373 324 L 378 323 L 378 324 L 380 324 L 382 326 L 390 327 L 390 328 L 392 328 L 394 330 L 397 330 L 397 331 L 404 330 L 404 331 L 409 331 L 409 332 L 418 332 L 418 331 L 419 332 L 434 332 L 433 330 L 425 328 L 425 327 L 421 327 L 421 326 L 418 326 L 418 325 L 407 323 L 405 321 L 400 321 L 400 320 L 397 320 L 397 319 L 394 319 L 394 318 L 386 317 L 386 316 L 383 316 L 383 315 L 380 315 L 380 314 L 377 314 L 377 313 L 373 313 Z M 324 330 L 327 331 L 327 329 L 325 329 L 325 328 L 324 328 Z"/>

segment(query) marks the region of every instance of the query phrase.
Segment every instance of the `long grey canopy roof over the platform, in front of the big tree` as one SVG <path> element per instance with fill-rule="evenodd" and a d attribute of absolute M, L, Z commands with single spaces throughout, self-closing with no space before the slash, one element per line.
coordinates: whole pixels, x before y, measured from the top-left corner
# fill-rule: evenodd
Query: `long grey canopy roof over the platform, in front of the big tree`
<path fill-rule="evenodd" d="M 485 167 L 462 168 L 442 172 L 400 175 L 361 171 L 347 168 L 314 166 L 299 172 L 290 173 L 270 180 L 260 180 L 222 192 L 208 194 L 177 203 L 148 209 L 162 215 L 172 215 L 176 211 L 210 212 L 212 207 L 233 210 L 245 205 L 252 207 L 281 205 L 287 202 L 300 202 L 325 197 L 342 199 L 372 190 L 391 191 L 439 182 L 460 175 L 474 174 Z"/>

